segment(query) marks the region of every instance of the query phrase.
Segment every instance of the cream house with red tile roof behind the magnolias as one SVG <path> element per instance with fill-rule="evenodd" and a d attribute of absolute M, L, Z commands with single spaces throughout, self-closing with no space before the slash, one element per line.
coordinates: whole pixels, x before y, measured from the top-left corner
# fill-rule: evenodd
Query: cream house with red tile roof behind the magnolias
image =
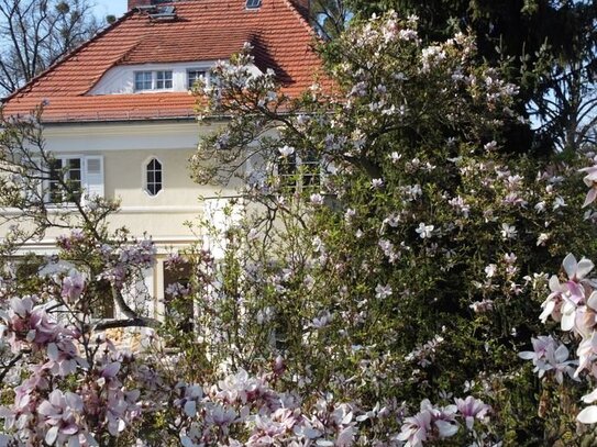
<path fill-rule="evenodd" d="M 196 241 L 185 222 L 209 198 L 233 193 L 189 178 L 187 160 L 209 132 L 195 119 L 190 86 L 209 83 L 210 66 L 250 42 L 254 70 L 274 69 L 288 94 L 308 89 L 320 62 L 307 10 L 307 0 L 129 0 L 121 19 L 4 100 L 4 114 L 20 116 L 44 102 L 46 147 L 66 175 L 121 199 L 113 227 L 153 237 L 158 262 L 145 283 L 155 303 L 168 282 L 166 254 Z M 51 253 L 56 235 L 30 248 Z"/>

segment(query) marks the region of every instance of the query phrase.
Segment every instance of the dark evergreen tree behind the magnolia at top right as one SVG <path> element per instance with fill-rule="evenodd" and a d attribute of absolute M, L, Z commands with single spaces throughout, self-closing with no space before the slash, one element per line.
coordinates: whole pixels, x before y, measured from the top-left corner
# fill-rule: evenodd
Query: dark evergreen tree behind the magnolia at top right
<path fill-rule="evenodd" d="M 520 86 L 517 112 L 531 119 L 509 132 L 510 149 L 579 149 L 590 143 L 596 103 L 593 98 L 596 49 L 595 1 L 574 0 L 350 0 L 361 18 L 395 10 L 420 18 L 427 41 L 443 41 L 454 31 L 476 35 L 478 55 L 509 66 Z M 541 124 L 531 133 L 530 128 Z"/>

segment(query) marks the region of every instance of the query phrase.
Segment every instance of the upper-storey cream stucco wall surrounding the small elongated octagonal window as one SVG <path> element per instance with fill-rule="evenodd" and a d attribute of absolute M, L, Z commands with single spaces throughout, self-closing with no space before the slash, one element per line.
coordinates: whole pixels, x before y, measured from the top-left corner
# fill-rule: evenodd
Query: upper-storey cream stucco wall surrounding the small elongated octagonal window
<path fill-rule="evenodd" d="M 200 186 L 190 178 L 189 157 L 200 135 L 215 126 L 192 121 L 88 123 L 48 126 L 45 137 L 56 155 L 102 156 L 106 197 L 121 201 L 121 211 L 110 217 L 112 226 L 166 244 L 191 237 L 185 222 L 201 215 L 200 197 L 235 194 L 232 188 Z M 144 188 L 145 166 L 153 157 L 163 169 L 163 189 L 154 197 Z"/>

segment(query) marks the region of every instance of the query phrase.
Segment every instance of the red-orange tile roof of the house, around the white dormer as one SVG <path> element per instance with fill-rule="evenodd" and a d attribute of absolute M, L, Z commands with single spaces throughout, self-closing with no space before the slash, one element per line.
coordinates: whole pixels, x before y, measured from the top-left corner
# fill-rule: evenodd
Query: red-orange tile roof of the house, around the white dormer
<path fill-rule="evenodd" d="M 257 65 L 274 65 L 285 92 L 306 90 L 321 67 L 314 33 L 289 0 L 187 0 L 173 3 L 177 19 L 152 21 L 132 10 L 106 31 L 7 99 L 4 113 L 26 114 L 42 101 L 45 122 L 181 118 L 194 114 L 186 92 L 90 96 L 118 65 L 226 59 L 244 42 L 255 44 Z M 262 64 L 259 64 L 262 63 Z"/>

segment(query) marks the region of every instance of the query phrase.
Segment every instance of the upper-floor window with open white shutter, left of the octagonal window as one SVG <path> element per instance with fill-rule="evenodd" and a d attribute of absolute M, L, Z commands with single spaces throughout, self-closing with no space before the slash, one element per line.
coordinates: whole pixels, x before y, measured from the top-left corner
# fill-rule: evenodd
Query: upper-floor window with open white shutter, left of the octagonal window
<path fill-rule="evenodd" d="M 49 203 L 79 202 L 87 197 L 103 197 L 103 157 L 62 156 L 49 161 L 45 200 Z"/>

